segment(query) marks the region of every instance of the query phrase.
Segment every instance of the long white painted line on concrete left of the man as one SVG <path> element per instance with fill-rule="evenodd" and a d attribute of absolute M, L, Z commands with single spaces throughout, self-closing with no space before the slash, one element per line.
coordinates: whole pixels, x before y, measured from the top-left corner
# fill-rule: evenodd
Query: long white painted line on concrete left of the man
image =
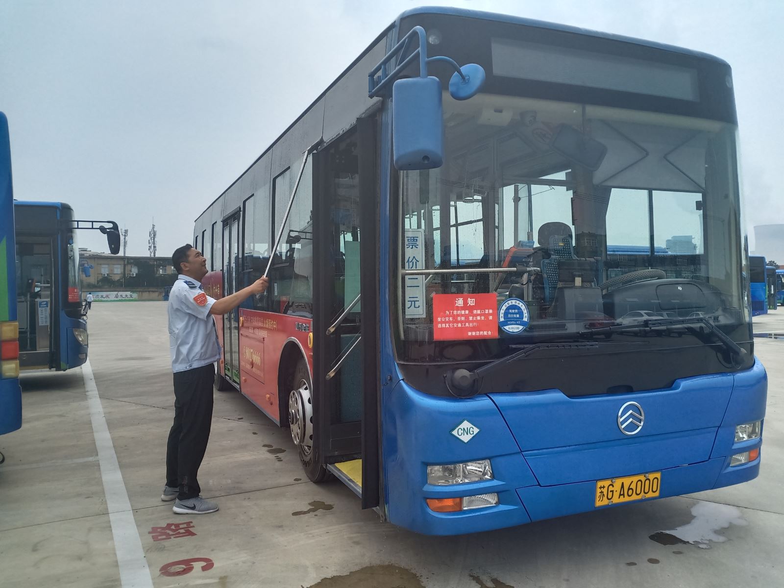
<path fill-rule="evenodd" d="M 125 490 L 125 482 L 122 481 L 117 454 L 114 453 L 114 445 L 111 442 L 106 417 L 103 416 L 103 405 L 98 396 L 96 380 L 89 360 L 82 365 L 82 376 L 85 379 L 87 405 L 98 449 L 100 477 L 103 480 L 103 492 L 106 494 L 109 510 L 114 552 L 117 554 L 120 568 L 120 583 L 122 588 L 152 588 L 150 568 L 147 567 L 147 559 L 144 557 L 142 541 L 136 529 L 136 521 L 133 519 L 128 492 Z"/>

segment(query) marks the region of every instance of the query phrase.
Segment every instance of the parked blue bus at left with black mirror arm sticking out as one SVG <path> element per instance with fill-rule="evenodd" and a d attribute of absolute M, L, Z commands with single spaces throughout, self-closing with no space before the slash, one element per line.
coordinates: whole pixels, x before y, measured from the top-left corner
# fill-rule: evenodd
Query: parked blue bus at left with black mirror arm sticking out
<path fill-rule="evenodd" d="M 100 229 L 116 254 L 117 223 L 76 220 L 64 202 L 14 201 L 13 212 L 20 370 L 76 368 L 88 348 L 76 234 Z"/>

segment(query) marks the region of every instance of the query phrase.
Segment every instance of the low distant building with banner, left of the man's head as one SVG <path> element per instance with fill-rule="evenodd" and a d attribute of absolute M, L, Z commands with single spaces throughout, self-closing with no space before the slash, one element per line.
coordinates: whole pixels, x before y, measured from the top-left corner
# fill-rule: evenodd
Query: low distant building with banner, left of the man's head
<path fill-rule="evenodd" d="M 177 272 L 171 257 L 113 256 L 79 249 L 79 278 L 83 296 L 87 292 L 110 292 L 112 299 L 117 294 L 116 299 L 162 300 Z"/>

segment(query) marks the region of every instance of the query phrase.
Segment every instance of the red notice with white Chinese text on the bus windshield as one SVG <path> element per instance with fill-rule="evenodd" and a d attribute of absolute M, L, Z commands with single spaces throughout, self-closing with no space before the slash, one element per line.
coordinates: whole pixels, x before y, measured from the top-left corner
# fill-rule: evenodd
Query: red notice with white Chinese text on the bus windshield
<path fill-rule="evenodd" d="M 435 294 L 433 339 L 497 339 L 497 311 L 495 294 Z"/>

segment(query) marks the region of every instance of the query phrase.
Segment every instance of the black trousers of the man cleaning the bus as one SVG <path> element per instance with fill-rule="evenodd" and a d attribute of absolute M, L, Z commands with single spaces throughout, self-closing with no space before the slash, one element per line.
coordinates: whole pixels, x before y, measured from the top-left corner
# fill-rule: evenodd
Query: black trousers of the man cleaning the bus
<path fill-rule="evenodd" d="M 180 500 L 201 493 L 196 476 L 209 440 L 214 381 L 212 364 L 174 374 L 174 424 L 166 447 L 166 485 L 180 487 Z"/>

